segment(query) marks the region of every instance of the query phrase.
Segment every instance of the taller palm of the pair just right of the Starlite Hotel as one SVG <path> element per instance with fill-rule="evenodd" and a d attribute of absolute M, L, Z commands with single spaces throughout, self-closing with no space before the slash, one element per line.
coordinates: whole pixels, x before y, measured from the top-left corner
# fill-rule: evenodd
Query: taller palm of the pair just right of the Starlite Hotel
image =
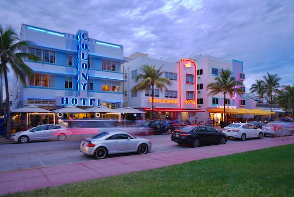
<path fill-rule="evenodd" d="M 271 105 L 271 111 L 273 106 L 273 99 L 272 99 L 272 93 L 280 94 L 281 91 L 279 90 L 279 81 L 281 78 L 277 77 L 277 74 L 269 74 L 267 73 L 267 76 L 263 76 L 263 84 L 265 87 L 265 93 L 267 96 L 270 97 L 270 105 Z"/>

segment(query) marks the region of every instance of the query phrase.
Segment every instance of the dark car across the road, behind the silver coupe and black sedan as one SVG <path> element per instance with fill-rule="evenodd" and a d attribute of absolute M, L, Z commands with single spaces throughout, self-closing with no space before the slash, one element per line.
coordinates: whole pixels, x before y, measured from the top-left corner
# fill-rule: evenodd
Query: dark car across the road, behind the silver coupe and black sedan
<path fill-rule="evenodd" d="M 169 122 L 169 126 L 166 127 L 166 121 Z M 162 132 L 171 134 L 175 130 L 175 126 L 171 120 L 148 120 L 141 124 L 140 126 L 136 127 L 137 130 L 146 130 L 145 135 L 150 133 L 160 134 L 160 129 L 162 127 Z"/>

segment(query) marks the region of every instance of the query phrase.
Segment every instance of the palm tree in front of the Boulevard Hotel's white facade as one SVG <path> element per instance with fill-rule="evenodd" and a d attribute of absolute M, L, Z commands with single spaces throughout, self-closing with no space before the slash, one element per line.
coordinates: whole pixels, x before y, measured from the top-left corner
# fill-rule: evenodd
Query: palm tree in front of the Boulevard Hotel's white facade
<path fill-rule="evenodd" d="M 138 82 L 138 84 L 136 84 L 131 89 L 131 91 L 133 91 L 134 93 L 137 93 L 139 91 L 152 90 L 151 118 L 153 118 L 154 112 L 154 88 L 158 88 L 160 89 L 160 91 L 163 91 L 163 89 L 168 89 L 166 87 L 166 84 L 171 85 L 171 81 L 168 78 L 162 77 L 162 75 L 164 74 L 164 72 L 161 71 L 162 67 L 163 65 L 159 69 L 155 69 L 155 65 L 143 65 L 140 68 L 141 73 L 135 77 L 135 81 Z"/>

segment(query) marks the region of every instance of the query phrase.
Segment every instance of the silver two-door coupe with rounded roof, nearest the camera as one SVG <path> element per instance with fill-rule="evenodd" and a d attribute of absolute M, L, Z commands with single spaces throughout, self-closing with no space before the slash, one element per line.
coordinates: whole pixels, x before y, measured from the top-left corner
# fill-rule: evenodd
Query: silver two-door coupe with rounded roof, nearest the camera
<path fill-rule="evenodd" d="M 145 154 L 151 150 L 151 141 L 140 137 L 133 137 L 125 132 L 101 132 L 91 138 L 82 138 L 80 151 L 87 155 L 94 155 L 96 159 L 103 159 L 108 154 L 138 152 Z"/>

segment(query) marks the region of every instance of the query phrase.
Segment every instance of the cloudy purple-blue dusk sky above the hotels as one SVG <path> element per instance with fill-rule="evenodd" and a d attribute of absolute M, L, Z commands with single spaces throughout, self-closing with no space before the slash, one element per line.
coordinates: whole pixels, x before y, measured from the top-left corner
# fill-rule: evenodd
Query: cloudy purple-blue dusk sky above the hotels
<path fill-rule="evenodd" d="M 244 63 L 245 84 L 266 72 L 294 83 L 293 0 L 1 0 L 0 24 L 29 24 L 172 59 L 208 54 Z"/>

